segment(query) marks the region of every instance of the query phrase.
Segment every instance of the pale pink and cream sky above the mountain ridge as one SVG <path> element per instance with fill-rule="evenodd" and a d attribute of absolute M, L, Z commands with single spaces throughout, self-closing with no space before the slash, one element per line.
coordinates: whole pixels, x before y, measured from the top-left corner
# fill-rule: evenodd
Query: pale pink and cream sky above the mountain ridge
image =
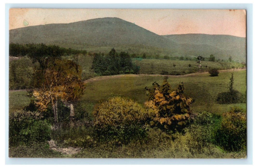
<path fill-rule="evenodd" d="M 9 29 L 118 17 L 159 35 L 227 34 L 246 37 L 246 11 L 226 9 L 32 9 L 9 10 Z"/>

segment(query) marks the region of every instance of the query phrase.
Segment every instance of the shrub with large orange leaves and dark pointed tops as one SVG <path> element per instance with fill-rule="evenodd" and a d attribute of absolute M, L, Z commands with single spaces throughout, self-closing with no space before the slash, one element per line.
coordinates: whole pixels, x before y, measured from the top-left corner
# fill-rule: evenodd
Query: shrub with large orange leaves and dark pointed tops
<path fill-rule="evenodd" d="M 145 89 L 148 95 L 145 105 L 150 118 L 149 124 L 152 127 L 157 126 L 162 130 L 180 132 L 188 126 L 191 118 L 189 106 L 193 100 L 183 95 L 183 84 L 180 84 L 176 91 L 171 91 L 170 84 L 167 79 L 164 79 L 162 86 L 154 82 L 153 90 L 148 87 Z"/>

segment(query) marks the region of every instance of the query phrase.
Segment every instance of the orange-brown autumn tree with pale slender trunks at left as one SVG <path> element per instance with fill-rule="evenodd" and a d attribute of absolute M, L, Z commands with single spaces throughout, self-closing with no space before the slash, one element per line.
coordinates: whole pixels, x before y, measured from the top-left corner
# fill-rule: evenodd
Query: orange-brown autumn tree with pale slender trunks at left
<path fill-rule="evenodd" d="M 73 103 L 83 95 L 85 89 L 80 76 L 81 70 L 76 71 L 73 61 L 56 60 L 54 66 L 45 70 L 41 87 L 34 89 L 36 107 L 43 112 L 51 105 L 55 125 L 58 124 L 58 100 L 70 108 L 71 120 L 74 117 Z"/>

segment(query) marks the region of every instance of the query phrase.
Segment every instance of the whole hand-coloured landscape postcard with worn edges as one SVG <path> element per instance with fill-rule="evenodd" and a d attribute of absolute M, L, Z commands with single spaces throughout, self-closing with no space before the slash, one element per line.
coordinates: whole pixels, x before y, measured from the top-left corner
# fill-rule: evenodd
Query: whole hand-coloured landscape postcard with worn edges
<path fill-rule="evenodd" d="M 246 10 L 9 9 L 10 158 L 246 158 Z"/>

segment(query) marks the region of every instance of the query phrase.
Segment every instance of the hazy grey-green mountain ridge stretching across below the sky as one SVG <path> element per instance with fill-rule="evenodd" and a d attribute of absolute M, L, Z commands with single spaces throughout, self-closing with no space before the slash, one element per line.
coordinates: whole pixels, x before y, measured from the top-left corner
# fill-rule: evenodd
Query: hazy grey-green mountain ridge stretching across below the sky
<path fill-rule="evenodd" d="M 187 40 L 186 40 L 187 39 Z M 157 35 L 119 18 L 97 18 L 62 24 L 12 29 L 10 43 L 45 43 L 74 49 L 106 52 L 112 47 L 129 53 L 209 57 L 245 61 L 245 38 L 228 35 Z M 224 46 L 224 47 L 223 47 Z"/>

